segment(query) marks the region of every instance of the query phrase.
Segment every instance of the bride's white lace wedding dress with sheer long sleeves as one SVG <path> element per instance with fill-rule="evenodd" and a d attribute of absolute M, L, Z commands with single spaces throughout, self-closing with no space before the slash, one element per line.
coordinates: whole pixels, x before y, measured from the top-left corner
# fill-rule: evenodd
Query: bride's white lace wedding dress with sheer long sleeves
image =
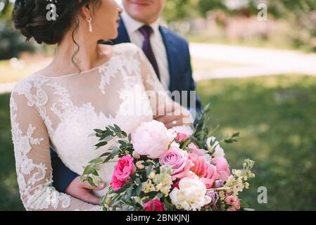
<path fill-rule="evenodd" d="M 118 124 L 127 132 L 153 119 L 156 103 L 147 91 L 163 86 L 144 53 L 133 44 L 113 46 L 97 68 L 61 77 L 32 75 L 11 94 L 11 125 L 21 199 L 27 210 L 100 210 L 53 188 L 52 146 L 77 174 L 109 146 L 94 150 L 93 129 Z M 163 97 L 165 98 L 165 97 Z M 171 99 L 165 98 L 165 104 Z M 114 163 L 101 167 L 110 184 Z"/>

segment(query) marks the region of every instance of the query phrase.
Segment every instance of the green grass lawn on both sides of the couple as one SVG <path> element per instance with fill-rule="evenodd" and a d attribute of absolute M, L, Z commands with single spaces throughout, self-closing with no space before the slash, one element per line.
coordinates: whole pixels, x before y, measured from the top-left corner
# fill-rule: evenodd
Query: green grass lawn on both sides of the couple
<path fill-rule="evenodd" d="M 223 144 L 231 168 L 255 160 L 251 189 L 242 198 L 256 210 L 316 210 L 316 77 L 280 75 L 214 79 L 198 83 L 210 102 L 216 135 L 241 132 Z M 9 120 L 9 95 L 0 96 L 0 210 L 23 210 L 16 184 Z M 257 189 L 267 187 L 267 204 Z"/>

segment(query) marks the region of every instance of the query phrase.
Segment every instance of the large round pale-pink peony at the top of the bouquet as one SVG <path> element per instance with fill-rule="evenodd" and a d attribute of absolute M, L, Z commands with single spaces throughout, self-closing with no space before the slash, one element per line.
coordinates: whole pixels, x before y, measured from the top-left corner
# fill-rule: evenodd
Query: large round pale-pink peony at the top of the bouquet
<path fill-rule="evenodd" d="M 160 158 L 168 150 L 169 143 L 167 128 L 156 120 L 143 122 L 132 134 L 134 152 L 151 159 Z"/>

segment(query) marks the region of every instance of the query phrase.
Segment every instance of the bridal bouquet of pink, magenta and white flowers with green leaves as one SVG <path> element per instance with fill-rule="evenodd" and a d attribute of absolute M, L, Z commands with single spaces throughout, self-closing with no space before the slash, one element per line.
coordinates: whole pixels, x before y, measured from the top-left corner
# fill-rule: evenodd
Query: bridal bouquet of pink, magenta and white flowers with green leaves
<path fill-rule="evenodd" d="M 96 129 L 96 148 L 115 141 L 110 152 L 89 162 L 82 181 L 96 186 L 98 166 L 118 158 L 108 192 L 101 198 L 103 210 L 227 210 L 248 207 L 239 192 L 249 188 L 254 162 L 229 170 L 220 141 L 208 136 L 206 113 L 193 127 L 167 129 L 161 122 L 144 122 L 127 135 L 117 125 Z M 236 141 L 238 133 L 223 141 Z"/>

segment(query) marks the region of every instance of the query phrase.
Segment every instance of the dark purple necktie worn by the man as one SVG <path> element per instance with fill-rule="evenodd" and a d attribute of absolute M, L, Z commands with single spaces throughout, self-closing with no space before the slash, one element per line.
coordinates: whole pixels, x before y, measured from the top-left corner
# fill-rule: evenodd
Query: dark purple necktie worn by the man
<path fill-rule="evenodd" d="M 151 65 L 153 65 L 153 70 L 155 70 L 156 75 L 158 79 L 160 80 L 160 73 L 159 73 L 159 68 L 158 68 L 158 63 L 155 58 L 155 55 L 153 54 L 153 49 L 151 48 L 151 34 L 153 34 L 153 28 L 151 28 L 148 25 L 144 25 L 141 28 L 139 28 L 139 32 L 143 34 L 144 36 L 144 42 L 143 42 L 143 51 L 145 55 L 147 56 L 149 62 L 151 62 Z"/>

